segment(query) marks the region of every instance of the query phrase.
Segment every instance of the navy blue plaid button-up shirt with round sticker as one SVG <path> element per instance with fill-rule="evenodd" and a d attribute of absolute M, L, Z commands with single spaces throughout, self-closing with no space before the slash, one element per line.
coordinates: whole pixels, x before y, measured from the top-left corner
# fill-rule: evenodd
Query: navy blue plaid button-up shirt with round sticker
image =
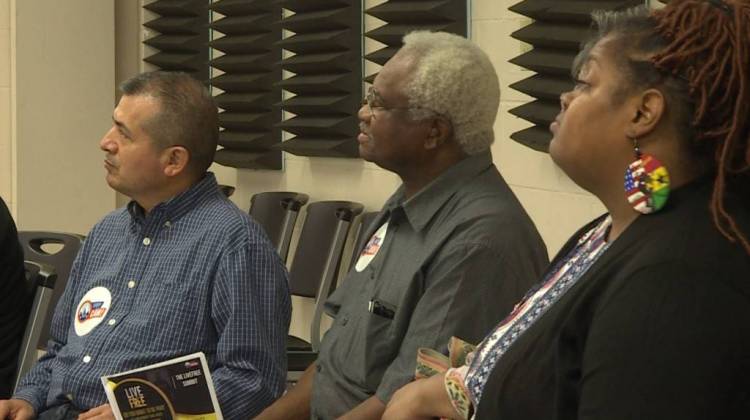
<path fill-rule="evenodd" d="M 102 289 L 85 296 L 96 287 L 109 308 Z M 131 202 L 94 226 L 14 397 L 88 409 L 106 403 L 101 376 L 202 351 L 224 417 L 252 417 L 284 390 L 290 315 L 281 260 L 209 173 L 148 215 Z"/>

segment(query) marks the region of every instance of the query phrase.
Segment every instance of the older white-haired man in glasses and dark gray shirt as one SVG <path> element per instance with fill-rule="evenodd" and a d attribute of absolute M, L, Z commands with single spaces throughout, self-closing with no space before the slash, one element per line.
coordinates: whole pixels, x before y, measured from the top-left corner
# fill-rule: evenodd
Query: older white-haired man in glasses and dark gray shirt
<path fill-rule="evenodd" d="M 414 378 L 419 347 L 480 340 L 547 264 L 492 163 L 500 87 L 479 47 L 413 32 L 366 99 L 360 155 L 403 185 L 326 303 L 335 321 L 318 360 L 262 419 L 379 419 Z"/>

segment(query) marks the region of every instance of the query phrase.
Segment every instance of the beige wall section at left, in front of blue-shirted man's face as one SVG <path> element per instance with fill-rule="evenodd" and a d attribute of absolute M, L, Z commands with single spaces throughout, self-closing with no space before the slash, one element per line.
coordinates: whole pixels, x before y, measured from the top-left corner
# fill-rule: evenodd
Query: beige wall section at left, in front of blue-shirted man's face
<path fill-rule="evenodd" d="M 86 233 L 115 205 L 98 147 L 114 103 L 114 3 L 11 0 L 11 6 L 17 223 L 24 230 Z"/>

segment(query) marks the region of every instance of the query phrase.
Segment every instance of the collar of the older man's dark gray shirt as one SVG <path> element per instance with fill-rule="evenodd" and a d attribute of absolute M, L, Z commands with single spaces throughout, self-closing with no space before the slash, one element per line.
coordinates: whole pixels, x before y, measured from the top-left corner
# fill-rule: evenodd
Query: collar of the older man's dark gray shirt
<path fill-rule="evenodd" d="M 404 201 L 404 186 L 401 185 L 388 200 L 385 209 L 394 213 L 396 208 L 402 207 L 409 224 L 419 232 L 461 186 L 490 166 L 492 153 L 489 150 L 469 156 L 448 168 L 409 200 Z"/>

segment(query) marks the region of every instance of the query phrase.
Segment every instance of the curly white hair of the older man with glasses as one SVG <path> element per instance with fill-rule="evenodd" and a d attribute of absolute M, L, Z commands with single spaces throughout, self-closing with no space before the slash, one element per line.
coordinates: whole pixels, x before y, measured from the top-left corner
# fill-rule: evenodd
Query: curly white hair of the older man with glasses
<path fill-rule="evenodd" d="M 500 82 L 487 54 L 466 38 L 430 31 L 407 34 L 399 54 L 416 63 L 405 92 L 415 108 L 411 117 L 443 115 L 466 154 L 488 149 L 495 139 Z"/>

